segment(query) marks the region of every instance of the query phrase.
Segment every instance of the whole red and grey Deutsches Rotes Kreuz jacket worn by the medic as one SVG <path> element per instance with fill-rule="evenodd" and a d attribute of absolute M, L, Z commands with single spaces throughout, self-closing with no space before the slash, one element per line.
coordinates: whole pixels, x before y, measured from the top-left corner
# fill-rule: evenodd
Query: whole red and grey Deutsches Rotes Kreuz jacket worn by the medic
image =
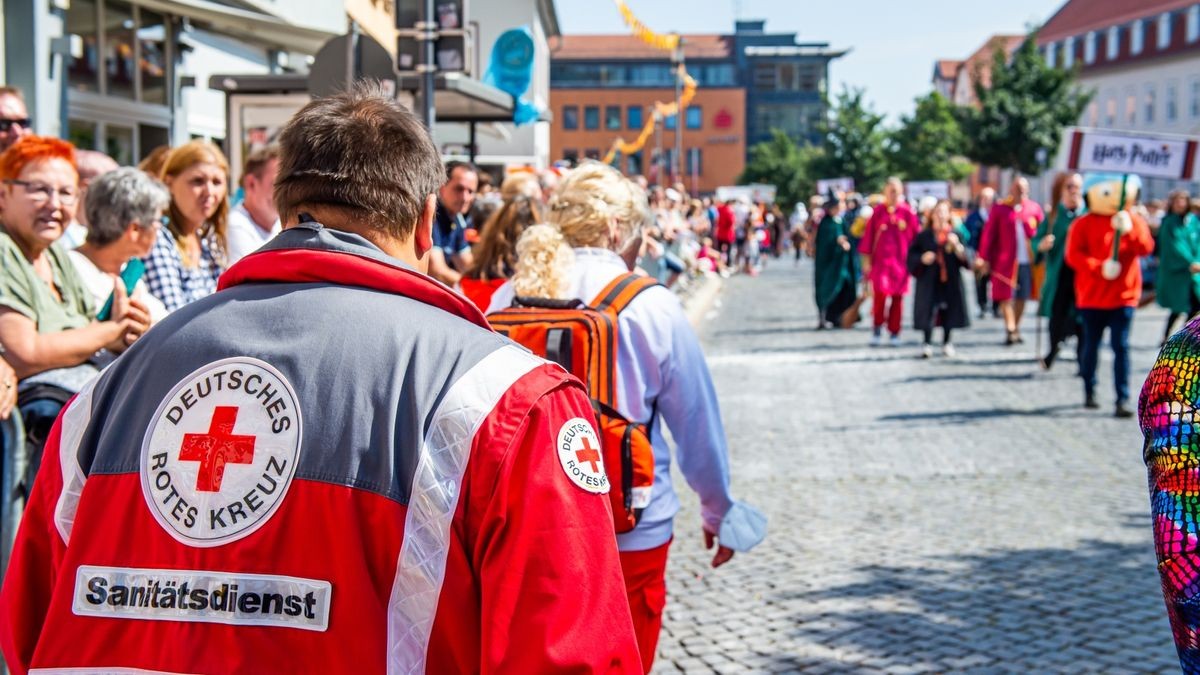
<path fill-rule="evenodd" d="M 16 673 L 641 673 L 593 419 L 467 299 L 301 225 L 64 410 L 0 646 Z"/>

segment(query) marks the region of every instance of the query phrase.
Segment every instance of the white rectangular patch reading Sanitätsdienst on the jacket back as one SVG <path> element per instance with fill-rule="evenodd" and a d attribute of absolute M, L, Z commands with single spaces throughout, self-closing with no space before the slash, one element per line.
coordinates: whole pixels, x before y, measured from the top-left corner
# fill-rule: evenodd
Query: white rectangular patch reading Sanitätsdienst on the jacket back
<path fill-rule="evenodd" d="M 80 566 L 77 616 L 276 626 L 324 632 L 329 581 L 269 574 Z"/>

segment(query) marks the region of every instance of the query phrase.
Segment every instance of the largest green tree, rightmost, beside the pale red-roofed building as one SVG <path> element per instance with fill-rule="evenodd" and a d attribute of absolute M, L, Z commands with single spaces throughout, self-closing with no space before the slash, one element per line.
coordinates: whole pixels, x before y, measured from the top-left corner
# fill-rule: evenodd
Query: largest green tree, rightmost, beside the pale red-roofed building
<path fill-rule="evenodd" d="M 982 165 L 1027 174 L 1049 168 L 1062 130 L 1075 124 L 1092 98 L 1075 85 L 1076 72 L 1049 66 L 1037 49 L 1037 31 L 1026 36 L 1012 62 L 997 48 L 991 85 L 976 73 L 978 108 L 962 108 L 967 156 Z"/>

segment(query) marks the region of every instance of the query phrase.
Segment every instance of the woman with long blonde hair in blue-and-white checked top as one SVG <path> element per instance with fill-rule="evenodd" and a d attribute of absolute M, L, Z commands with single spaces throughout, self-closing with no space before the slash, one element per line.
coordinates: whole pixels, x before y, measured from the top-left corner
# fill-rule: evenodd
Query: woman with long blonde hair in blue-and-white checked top
<path fill-rule="evenodd" d="M 170 191 L 167 227 L 146 263 L 146 286 L 167 311 L 210 295 L 226 268 L 229 162 L 205 141 L 172 150 L 162 167 Z"/>

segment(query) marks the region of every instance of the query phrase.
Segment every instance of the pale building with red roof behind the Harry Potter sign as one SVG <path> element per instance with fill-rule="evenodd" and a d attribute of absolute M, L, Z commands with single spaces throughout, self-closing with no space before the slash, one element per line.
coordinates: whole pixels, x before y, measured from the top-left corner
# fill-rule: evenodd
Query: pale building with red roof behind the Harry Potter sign
<path fill-rule="evenodd" d="M 1050 65 L 1078 68 L 1093 92 L 1080 126 L 1200 137 L 1200 2 L 1069 0 L 1042 28 L 1038 47 Z M 1148 197 L 1174 187 L 1196 184 L 1146 181 Z"/>

